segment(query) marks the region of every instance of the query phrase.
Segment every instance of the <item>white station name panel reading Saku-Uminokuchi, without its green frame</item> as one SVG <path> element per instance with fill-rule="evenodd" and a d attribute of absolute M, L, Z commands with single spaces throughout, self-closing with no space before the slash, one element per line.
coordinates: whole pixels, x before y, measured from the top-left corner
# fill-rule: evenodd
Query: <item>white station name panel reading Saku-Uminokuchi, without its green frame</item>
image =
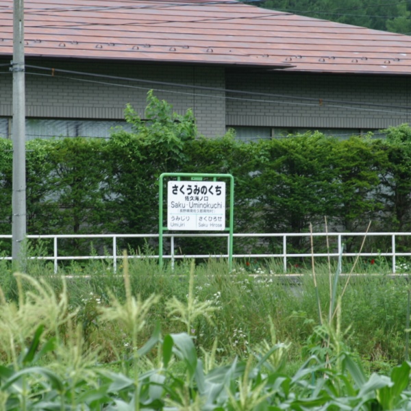
<path fill-rule="evenodd" d="M 225 182 L 169 181 L 167 229 L 225 229 Z"/>

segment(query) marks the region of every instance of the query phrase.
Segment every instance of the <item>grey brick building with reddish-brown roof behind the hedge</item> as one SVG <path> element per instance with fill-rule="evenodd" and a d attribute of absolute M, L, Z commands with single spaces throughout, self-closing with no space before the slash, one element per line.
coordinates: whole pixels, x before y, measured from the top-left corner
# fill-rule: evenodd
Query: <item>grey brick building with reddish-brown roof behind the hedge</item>
<path fill-rule="evenodd" d="M 12 116 L 13 1 L 0 0 L 0 136 Z M 218 0 L 25 0 L 27 138 L 108 136 L 147 90 L 206 136 L 408 123 L 411 37 Z"/>

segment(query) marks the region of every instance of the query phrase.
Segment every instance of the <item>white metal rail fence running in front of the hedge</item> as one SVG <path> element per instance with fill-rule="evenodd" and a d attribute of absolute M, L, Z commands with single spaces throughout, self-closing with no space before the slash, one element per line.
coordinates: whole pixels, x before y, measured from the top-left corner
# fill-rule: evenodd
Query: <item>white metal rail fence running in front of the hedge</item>
<path fill-rule="evenodd" d="M 258 238 L 260 240 L 264 240 L 264 238 L 270 238 L 270 237 L 275 237 L 279 238 L 280 241 L 282 241 L 282 252 L 280 253 L 263 253 L 263 254 L 257 254 L 257 253 L 242 253 L 242 254 L 234 254 L 233 258 L 280 258 L 282 259 L 283 262 L 283 267 L 284 267 L 284 273 L 287 271 L 287 260 L 288 258 L 303 258 L 303 257 L 310 257 L 312 256 L 311 253 L 292 253 L 288 252 L 288 242 L 290 238 L 292 237 L 310 237 L 311 234 L 234 234 L 234 245 L 236 244 L 236 238 Z M 359 251 L 356 252 L 350 252 L 347 253 L 344 250 L 344 242 L 346 238 L 349 237 L 364 237 L 371 238 L 374 236 L 378 237 L 384 237 L 387 242 L 390 243 L 390 247 L 387 247 L 388 249 L 386 251 L 363 251 L 360 253 Z M 315 252 L 314 250 L 314 258 L 316 257 L 332 257 L 332 258 L 338 258 L 339 256 L 344 257 L 386 257 L 386 258 L 391 258 L 391 266 L 392 266 L 392 271 L 395 273 L 397 271 L 396 267 L 396 261 L 398 257 L 411 257 L 411 252 L 397 252 L 396 251 L 396 242 L 397 238 L 401 237 L 408 237 L 411 236 L 411 232 L 379 232 L 379 233 L 313 233 L 312 237 L 313 238 L 318 238 L 318 237 L 328 237 L 328 240 L 330 243 L 332 243 L 332 251 L 323 253 L 323 252 Z M 175 238 L 184 238 L 184 237 L 196 237 L 196 238 L 201 238 L 201 237 L 212 237 L 212 238 L 227 238 L 227 251 L 226 253 L 221 253 L 221 254 L 177 254 L 176 249 L 175 249 Z M 53 255 L 52 256 L 32 256 L 30 258 L 34 259 L 39 259 L 39 260 L 49 260 L 53 261 L 54 263 L 54 272 L 57 273 L 58 271 L 58 262 L 59 261 L 64 261 L 64 260 L 112 260 L 113 264 L 113 269 L 116 271 L 116 264 L 117 260 L 121 258 L 121 255 L 119 255 L 119 250 L 118 250 L 118 240 L 119 238 L 121 239 L 127 239 L 127 238 L 145 238 L 145 239 L 153 239 L 153 238 L 158 238 L 158 234 L 83 234 L 83 235 L 64 235 L 64 234 L 56 234 L 56 235 L 29 235 L 27 238 L 30 239 L 51 239 L 53 240 Z M 97 239 L 97 238 L 107 238 L 110 240 L 111 246 L 110 246 L 110 253 L 108 253 L 107 250 L 104 252 L 101 252 L 101 255 L 98 255 L 93 251 L 94 255 L 89 255 L 89 256 L 61 256 L 59 255 L 59 245 L 58 242 L 59 240 L 62 240 L 64 238 L 82 238 L 82 239 Z M 174 264 L 176 259 L 179 258 L 210 258 L 210 257 L 215 257 L 215 258 L 227 258 L 228 257 L 228 241 L 229 241 L 229 234 L 164 234 L 164 238 L 170 238 L 170 253 L 169 254 L 164 254 L 163 258 L 168 258 L 171 260 L 172 264 Z M 12 240 L 12 236 L 10 235 L 0 235 L 0 241 L 1 240 Z M 1 251 L 1 250 L 0 250 Z M 130 258 L 142 258 L 142 257 L 147 257 L 147 256 L 130 256 Z M 148 256 L 149 258 L 158 258 L 158 255 L 150 255 Z M 3 254 L 0 255 L 0 260 L 11 260 L 11 256 Z"/>

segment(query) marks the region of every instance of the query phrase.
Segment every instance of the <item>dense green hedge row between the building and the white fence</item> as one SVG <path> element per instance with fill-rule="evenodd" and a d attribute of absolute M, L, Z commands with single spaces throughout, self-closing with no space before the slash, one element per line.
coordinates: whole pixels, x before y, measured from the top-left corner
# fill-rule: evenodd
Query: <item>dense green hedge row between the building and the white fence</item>
<path fill-rule="evenodd" d="M 134 132 L 116 130 L 109 140 L 27 142 L 28 234 L 158 232 L 164 172 L 234 175 L 236 232 L 307 232 L 310 223 L 323 229 L 325 216 L 329 231 L 364 230 L 370 220 L 372 231 L 411 230 L 408 125 L 387 129 L 384 140 L 314 133 L 244 143 L 232 133 L 194 138 L 191 112 L 178 116 L 152 95 L 146 117 L 127 107 Z M 2 234 L 11 233 L 11 150 L 0 139 Z"/>

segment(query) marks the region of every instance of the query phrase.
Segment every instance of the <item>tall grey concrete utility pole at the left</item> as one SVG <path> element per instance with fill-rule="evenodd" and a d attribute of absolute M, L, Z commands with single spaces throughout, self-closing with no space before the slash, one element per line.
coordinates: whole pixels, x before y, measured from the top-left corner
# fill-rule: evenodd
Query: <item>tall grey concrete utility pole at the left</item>
<path fill-rule="evenodd" d="M 13 10 L 13 193 L 12 193 L 12 259 L 23 262 L 21 245 L 26 236 L 26 177 L 25 177 L 25 59 L 24 59 L 24 1 L 14 0 Z"/>

